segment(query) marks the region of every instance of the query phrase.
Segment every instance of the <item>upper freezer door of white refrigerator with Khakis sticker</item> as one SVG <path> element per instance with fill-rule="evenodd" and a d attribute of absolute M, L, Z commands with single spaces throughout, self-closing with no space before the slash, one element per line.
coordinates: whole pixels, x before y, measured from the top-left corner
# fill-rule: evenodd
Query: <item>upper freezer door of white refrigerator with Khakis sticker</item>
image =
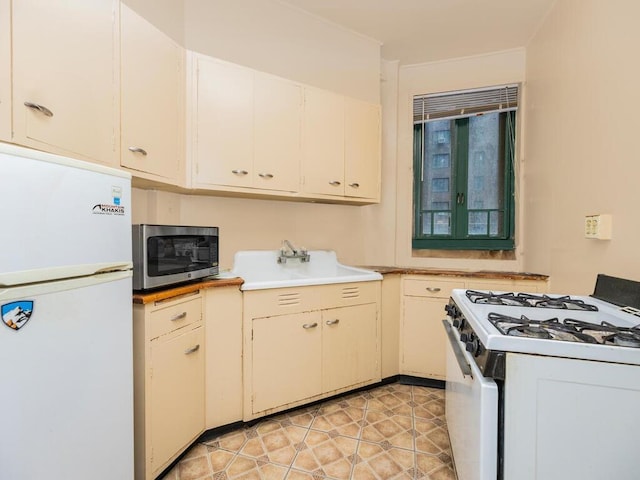
<path fill-rule="evenodd" d="M 131 176 L 0 143 L 0 286 L 131 268 Z"/>

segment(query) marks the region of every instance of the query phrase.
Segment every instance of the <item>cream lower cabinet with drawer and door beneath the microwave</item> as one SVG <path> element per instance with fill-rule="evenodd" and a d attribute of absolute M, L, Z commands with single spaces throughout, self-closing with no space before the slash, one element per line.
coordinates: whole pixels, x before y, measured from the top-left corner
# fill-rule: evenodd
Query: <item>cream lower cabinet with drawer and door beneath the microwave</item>
<path fill-rule="evenodd" d="M 156 478 L 205 428 L 202 295 L 135 304 L 135 478 Z"/>

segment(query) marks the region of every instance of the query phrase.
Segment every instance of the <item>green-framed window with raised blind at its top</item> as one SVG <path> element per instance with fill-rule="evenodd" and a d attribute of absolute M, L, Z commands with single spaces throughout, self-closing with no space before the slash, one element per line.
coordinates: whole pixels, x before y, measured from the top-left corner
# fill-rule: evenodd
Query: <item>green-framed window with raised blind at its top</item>
<path fill-rule="evenodd" d="M 514 248 L 517 86 L 414 98 L 413 248 Z"/>

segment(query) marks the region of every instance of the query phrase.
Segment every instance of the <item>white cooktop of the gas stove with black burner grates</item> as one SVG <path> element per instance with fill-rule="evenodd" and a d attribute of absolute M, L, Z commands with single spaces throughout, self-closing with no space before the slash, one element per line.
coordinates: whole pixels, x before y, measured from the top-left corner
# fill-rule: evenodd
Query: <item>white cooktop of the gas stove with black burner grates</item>
<path fill-rule="evenodd" d="M 638 310 L 584 296 L 454 290 L 451 297 L 476 357 L 489 350 L 640 365 Z"/>

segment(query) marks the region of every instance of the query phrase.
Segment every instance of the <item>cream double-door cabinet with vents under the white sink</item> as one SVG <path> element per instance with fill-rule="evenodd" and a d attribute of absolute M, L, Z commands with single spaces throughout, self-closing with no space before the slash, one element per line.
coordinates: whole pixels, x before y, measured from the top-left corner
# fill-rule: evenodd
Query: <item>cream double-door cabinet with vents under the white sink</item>
<path fill-rule="evenodd" d="M 244 302 L 245 421 L 380 381 L 380 282 L 244 292 Z"/>

